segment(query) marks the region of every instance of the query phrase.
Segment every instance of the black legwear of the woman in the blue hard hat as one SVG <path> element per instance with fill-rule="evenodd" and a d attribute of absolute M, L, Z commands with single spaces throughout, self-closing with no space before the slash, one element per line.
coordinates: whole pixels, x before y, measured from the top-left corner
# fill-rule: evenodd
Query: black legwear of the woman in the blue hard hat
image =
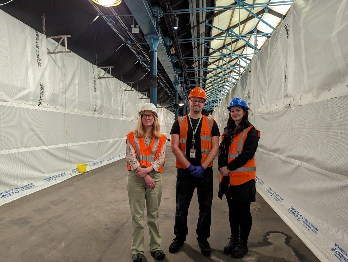
<path fill-rule="evenodd" d="M 231 235 L 239 237 L 243 241 L 248 241 L 252 225 L 250 213 L 250 201 L 235 201 L 228 196 L 228 218 L 230 220 Z M 240 229 L 240 230 L 239 230 Z"/>

